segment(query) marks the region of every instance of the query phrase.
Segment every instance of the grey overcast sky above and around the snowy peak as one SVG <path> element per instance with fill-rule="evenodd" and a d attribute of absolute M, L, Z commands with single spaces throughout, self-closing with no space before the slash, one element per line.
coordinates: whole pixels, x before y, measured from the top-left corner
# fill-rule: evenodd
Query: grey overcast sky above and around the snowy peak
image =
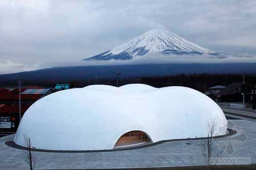
<path fill-rule="evenodd" d="M 92 57 L 161 26 L 210 50 L 256 55 L 256 1 L 0 0 L 0 74 Z"/>

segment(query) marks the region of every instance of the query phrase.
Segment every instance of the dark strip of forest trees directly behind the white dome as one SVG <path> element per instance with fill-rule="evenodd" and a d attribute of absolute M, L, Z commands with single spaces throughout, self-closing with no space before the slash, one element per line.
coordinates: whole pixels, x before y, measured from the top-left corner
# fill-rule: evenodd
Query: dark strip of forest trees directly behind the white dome
<path fill-rule="evenodd" d="M 202 92 L 207 88 L 222 85 L 226 86 L 234 82 L 243 82 L 243 75 L 241 74 L 180 74 L 174 76 L 163 77 L 141 77 L 141 78 L 123 78 L 119 77 L 119 86 L 130 83 L 142 83 L 151 85 L 153 87 L 166 86 L 185 86 Z M 249 88 L 253 88 L 256 84 L 256 75 L 245 75 L 245 82 Z M 74 87 L 74 81 L 69 82 L 71 87 Z M 95 84 L 95 79 L 76 81 L 76 87 L 84 87 Z M 116 79 L 97 79 L 97 84 L 105 84 L 116 86 Z"/>

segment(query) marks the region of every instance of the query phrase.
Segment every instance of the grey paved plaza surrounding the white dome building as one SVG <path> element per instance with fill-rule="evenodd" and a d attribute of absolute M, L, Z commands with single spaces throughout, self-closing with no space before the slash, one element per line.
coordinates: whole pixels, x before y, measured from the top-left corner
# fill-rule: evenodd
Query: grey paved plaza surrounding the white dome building
<path fill-rule="evenodd" d="M 256 163 L 256 120 L 234 119 L 232 122 L 241 126 L 243 133 L 248 136 L 242 149 L 234 152 L 232 157 L 250 157 L 251 163 Z M 13 138 L 14 135 L 0 138 L 0 169 L 29 169 L 24 160 L 25 151 L 6 145 L 5 142 Z M 201 139 L 169 141 L 151 147 L 114 152 L 33 154 L 37 156 L 36 169 L 193 166 L 205 164 L 202 142 Z M 221 156 L 229 155 L 222 152 Z"/>

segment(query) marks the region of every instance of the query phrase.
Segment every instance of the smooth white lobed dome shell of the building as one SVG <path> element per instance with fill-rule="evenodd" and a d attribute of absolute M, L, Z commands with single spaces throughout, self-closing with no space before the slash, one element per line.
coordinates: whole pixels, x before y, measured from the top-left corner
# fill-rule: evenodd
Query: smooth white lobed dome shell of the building
<path fill-rule="evenodd" d="M 221 108 L 187 87 L 119 88 L 91 85 L 58 91 L 35 102 L 24 114 L 14 142 L 24 136 L 36 149 L 107 150 L 126 132 L 145 132 L 153 142 L 207 136 L 207 123 L 225 126 Z"/>

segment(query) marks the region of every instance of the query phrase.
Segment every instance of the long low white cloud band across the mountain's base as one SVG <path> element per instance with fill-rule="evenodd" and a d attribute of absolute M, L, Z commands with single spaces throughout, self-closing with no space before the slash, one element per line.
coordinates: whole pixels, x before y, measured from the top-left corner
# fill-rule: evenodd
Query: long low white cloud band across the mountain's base
<path fill-rule="evenodd" d="M 66 67 L 66 66 L 97 66 L 97 65 L 134 65 L 134 64 L 170 64 L 170 63 L 256 63 L 256 56 L 211 56 L 211 55 L 164 55 L 164 54 L 148 54 L 145 56 L 136 56 L 131 60 L 106 60 L 106 61 L 76 61 L 76 62 L 47 62 L 35 65 L 23 65 L 20 63 L 0 63 L 3 69 L 0 74 L 9 74 L 13 72 L 31 71 L 50 67 Z M 11 71 L 10 71 L 11 70 Z"/>

